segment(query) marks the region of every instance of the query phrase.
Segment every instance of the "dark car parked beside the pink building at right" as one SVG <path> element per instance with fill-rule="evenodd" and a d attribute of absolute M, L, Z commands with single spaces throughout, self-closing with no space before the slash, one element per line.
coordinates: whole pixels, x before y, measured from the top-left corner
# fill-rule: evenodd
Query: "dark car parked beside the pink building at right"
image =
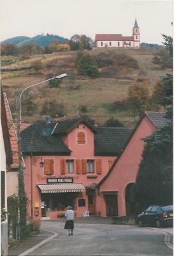
<path fill-rule="evenodd" d="M 146 224 L 156 227 L 173 224 L 173 205 L 150 205 L 146 211 L 138 214 L 137 219 L 140 227 Z"/>

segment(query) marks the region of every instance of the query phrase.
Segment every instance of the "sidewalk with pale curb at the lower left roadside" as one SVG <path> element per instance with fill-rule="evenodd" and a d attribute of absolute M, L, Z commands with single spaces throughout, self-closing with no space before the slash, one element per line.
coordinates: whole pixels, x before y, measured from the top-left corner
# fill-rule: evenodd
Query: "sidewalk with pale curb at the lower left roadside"
<path fill-rule="evenodd" d="M 33 235 L 31 237 L 27 237 L 24 240 L 18 241 L 13 246 L 8 249 L 8 256 L 17 256 L 25 251 L 29 250 L 33 246 L 36 246 L 41 241 L 47 239 L 48 237 L 52 237 L 54 234 L 52 232 L 47 232 L 45 230 L 41 230 L 40 234 Z"/>

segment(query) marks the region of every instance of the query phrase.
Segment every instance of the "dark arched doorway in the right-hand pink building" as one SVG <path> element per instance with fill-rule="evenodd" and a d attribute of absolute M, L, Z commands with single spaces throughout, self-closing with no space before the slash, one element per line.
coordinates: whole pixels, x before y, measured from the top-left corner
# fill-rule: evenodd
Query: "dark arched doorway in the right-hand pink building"
<path fill-rule="evenodd" d="M 134 183 L 130 183 L 126 187 L 126 216 L 134 216 L 135 214 L 134 185 Z"/>

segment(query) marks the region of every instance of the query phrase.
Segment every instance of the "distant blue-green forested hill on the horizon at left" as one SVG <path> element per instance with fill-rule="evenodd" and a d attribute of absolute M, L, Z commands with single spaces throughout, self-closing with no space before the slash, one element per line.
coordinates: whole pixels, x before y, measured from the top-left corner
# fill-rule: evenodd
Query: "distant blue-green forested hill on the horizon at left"
<path fill-rule="evenodd" d="M 15 44 L 17 46 L 28 45 L 28 44 L 36 44 L 38 46 L 48 46 L 54 40 L 59 41 L 60 43 L 66 42 L 68 39 L 58 35 L 37 35 L 34 37 L 27 36 L 17 36 L 13 38 L 9 38 L 1 42 L 1 44 Z"/>

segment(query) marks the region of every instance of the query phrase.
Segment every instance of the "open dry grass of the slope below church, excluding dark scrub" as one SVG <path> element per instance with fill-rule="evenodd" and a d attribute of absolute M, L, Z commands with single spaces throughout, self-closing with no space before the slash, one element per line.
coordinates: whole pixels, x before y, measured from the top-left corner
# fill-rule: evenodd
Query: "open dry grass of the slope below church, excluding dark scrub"
<path fill-rule="evenodd" d="M 89 53 L 96 55 L 102 51 L 106 50 L 96 49 Z M 152 63 L 153 50 L 117 49 L 112 51 L 117 54 L 124 53 L 132 56 L 138 61 L 139 69 L 131 70 L 130 68 L 124 68 L 118 78 L 90 79 L 89 77 L 76 76 L 76 86 L 80 86 L 78 90 L 71 90 L 68 79 L 62 81 L 61 89 L 49 88 L 47 83 L 36 86 L 31 92 L 36 95 L 35 102 L 38 105 L 38 109 L 32 116 L 23 115 L 24 120 L 34 121 L 36 118 L 40 118 L 38 113 L 40 113 L 41 104 L 49 99 L 55 99 L 59 103 L 64 103 L 66 113 L 69 115 L 76 115 L 78 104 L 85 105 L 87 106 L 87 115 L 91 115 L 91 118 L 95 119 L 99 124 L 105 122 L 108 119 L 108 115 L 129 115 L 129 113 L 110 111 L 108 104 L 127 96 L 127 88 L 136 82 L 140 70 L 145 72 L 145 77 L 149 81 L 150 92 L 152 92 L 154 85 L 159 80 L 159 76 L 165 74 L 167 71 L 169 72 L 169 70 L 160 70 Z M 75 56 L 76 52 L 57 52 L 44 56 L 33 56 L 30 60 L 25 61 L 27 65 L 27 62 L 32 63 L 36 59 L 41 60 L 43 65 L 41 74 L 37 74 L 33 70 L 4 72 L 2 74 L 2 84 L 4 86 L 4 92 L 7 93 L 12 112 L 15 111 L 15 94 L 21 92 L 22 88 L 47 79 L 47 74 L 53 74 L 54 76 L 63 72 L 71 72 L 71 70 L 76 72 Z M 20 63 L 16 64 L 20 65 Z M 24 65 L 24 61 L 22 65 Z M 14 77 L 15 74 L 16 77 Z M 92 117 L 92 115 L 106 116 Z M 128 126 L 133 122 L 131 116 L 120 117 L 118 119 Z"/>

